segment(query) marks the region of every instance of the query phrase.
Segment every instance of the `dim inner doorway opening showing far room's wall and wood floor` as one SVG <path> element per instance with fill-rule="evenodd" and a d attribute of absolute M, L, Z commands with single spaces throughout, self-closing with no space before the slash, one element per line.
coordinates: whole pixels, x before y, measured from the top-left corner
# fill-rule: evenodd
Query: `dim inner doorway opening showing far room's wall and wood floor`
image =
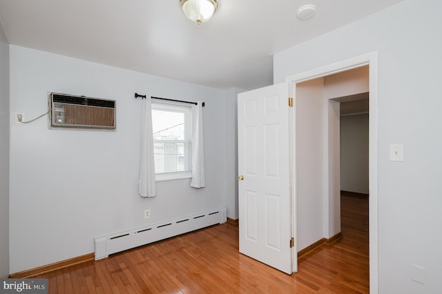
<path fill-rule="evenodd" d="M 368 84 L 368 77 L 367 77 Z M 369 92 L 334 99 L 340 103 L 339 246 L 358 255 L 361 279 L 368 280 L 369 260 Z"/>

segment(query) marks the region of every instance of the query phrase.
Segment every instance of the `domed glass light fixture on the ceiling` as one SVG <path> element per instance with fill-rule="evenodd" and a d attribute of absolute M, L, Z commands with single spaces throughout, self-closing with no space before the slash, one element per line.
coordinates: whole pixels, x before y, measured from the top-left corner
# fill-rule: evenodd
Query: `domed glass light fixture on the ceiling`
<path fill-rule="evenodd" d="M 182 12 L 186 17 L 195 23 L 204 23 L 208 21 L 216 8 L 218 8 L 217 0 L 180 0 Z"/>

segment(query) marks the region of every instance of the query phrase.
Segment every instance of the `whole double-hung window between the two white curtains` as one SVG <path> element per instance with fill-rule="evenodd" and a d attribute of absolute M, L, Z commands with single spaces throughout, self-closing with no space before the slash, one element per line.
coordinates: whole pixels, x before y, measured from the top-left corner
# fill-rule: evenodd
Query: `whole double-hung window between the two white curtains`
<path fill-rule="evenodd" d="M 191 174 L 191 107 L 152 102 L 155 179 L 182 179 Z"/>

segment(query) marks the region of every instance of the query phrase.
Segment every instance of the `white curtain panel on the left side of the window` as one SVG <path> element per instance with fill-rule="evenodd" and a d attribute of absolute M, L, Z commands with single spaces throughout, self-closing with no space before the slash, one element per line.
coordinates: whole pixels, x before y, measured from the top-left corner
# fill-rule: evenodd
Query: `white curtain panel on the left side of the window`
<path fill-rule="evenodd" d="M 155 161 L 153 159 L 153 134 L 152 134 L 152 102 L 151 96 L 142 99 L 142 141 L 141 141 L 141 167 L 138 182 L 138 194 L 141 197 L 155 197 Z"/>

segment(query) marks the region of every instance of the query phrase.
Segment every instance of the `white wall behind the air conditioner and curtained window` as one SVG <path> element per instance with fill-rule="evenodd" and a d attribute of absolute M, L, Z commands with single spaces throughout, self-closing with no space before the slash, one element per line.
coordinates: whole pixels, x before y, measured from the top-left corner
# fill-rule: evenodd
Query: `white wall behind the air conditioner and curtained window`
<path fill-rule="evenodd" d="M 117 129 L 50 129 L 48 92 L 117 100 Z M 137 195 L 141 101 L 205 101 L 206 188 L 157 182 Z M 2 102 L 3 103 L 3 102 Z M 226 206 L 224 92 L 10 46 L 10 273 L 92 253 L 93 238 Z M 151 208 L 151 219 L 144 209 Z"/>

